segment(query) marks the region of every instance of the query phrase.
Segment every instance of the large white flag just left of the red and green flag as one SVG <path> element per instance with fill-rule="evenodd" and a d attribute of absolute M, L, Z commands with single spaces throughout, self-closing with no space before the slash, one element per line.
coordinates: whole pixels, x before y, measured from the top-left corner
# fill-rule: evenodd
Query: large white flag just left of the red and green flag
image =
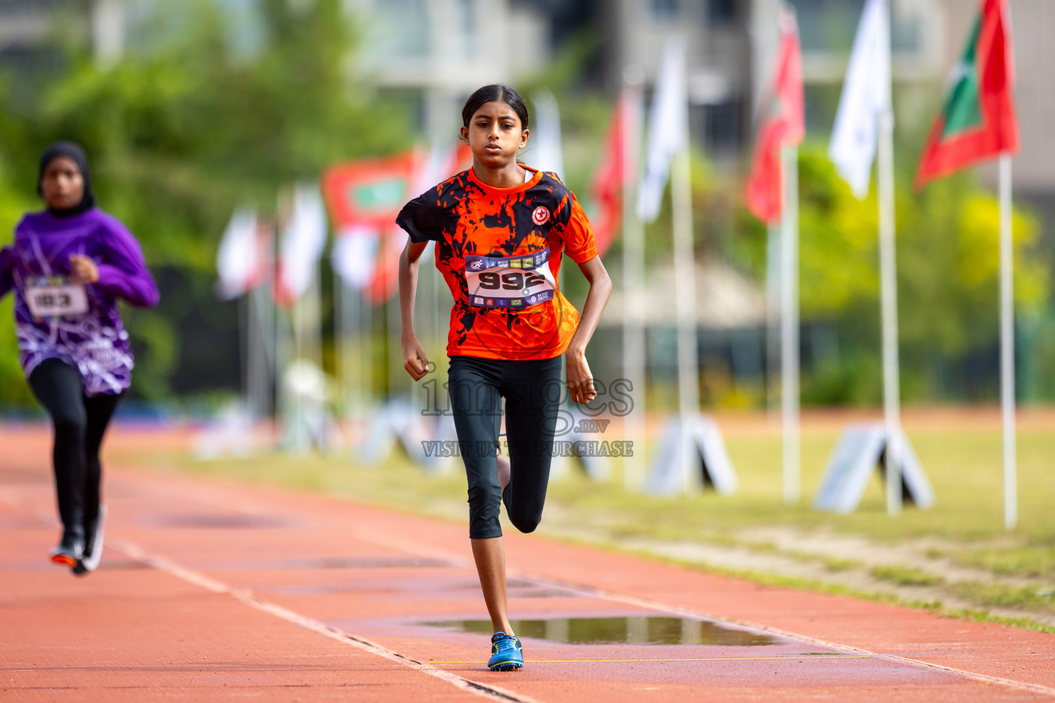
<path fill-rule="evenodd" d="M 866 0 L 843 82 L 828 155 L 859 199 L 868 195 L 879 117 L 890 106 L 886 0 Z"/>

